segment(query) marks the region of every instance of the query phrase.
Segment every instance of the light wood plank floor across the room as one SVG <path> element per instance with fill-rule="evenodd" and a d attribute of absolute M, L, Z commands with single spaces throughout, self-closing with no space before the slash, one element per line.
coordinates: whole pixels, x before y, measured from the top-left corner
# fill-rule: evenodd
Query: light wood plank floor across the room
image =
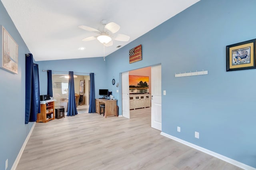
<path fill-rule="evenodd" d="M 151 128 L 150 108 L 131 119 L 85 113 L 36 123 L 17 170 L 240 170 Z"/>

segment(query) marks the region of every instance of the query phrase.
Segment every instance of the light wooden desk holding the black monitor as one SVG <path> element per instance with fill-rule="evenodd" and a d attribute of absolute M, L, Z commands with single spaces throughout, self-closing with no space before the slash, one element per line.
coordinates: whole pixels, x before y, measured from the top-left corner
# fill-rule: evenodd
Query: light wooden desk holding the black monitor
<path fill-rule="evenodd" d="M 106 99 L 95 99 L 96 103 L 96 113 L 100 114 L 100 105 L 105 104 L 105 114 L 104 117 L 116 116 L 116 99 L 106 100 Z"/>

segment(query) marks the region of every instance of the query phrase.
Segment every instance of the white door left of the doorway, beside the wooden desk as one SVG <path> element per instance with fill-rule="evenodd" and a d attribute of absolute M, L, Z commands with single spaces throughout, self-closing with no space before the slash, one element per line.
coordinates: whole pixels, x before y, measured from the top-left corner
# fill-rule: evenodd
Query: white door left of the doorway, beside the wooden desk
<path fill-rule="evenodd" d="M 122 115 L 130 119 L 129 72 L 122 73 Z"/>

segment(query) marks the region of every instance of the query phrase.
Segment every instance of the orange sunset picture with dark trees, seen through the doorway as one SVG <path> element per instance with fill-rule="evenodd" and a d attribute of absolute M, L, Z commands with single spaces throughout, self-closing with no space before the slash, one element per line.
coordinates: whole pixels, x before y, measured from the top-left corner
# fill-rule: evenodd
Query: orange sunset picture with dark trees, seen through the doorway
<path fill-rule="evenodd" d="M 129 75 L 130 93 L 148 93 L 149 77 L 140 75 Z"/>

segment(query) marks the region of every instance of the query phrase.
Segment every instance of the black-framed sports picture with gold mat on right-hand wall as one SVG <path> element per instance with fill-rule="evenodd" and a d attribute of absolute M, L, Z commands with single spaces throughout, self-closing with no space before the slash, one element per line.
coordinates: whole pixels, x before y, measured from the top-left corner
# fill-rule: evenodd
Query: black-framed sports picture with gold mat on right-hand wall
<path fill-rule="evenodd" d="M 256 39 L 226 46 L 226 71 L 255 69 Z"/>

